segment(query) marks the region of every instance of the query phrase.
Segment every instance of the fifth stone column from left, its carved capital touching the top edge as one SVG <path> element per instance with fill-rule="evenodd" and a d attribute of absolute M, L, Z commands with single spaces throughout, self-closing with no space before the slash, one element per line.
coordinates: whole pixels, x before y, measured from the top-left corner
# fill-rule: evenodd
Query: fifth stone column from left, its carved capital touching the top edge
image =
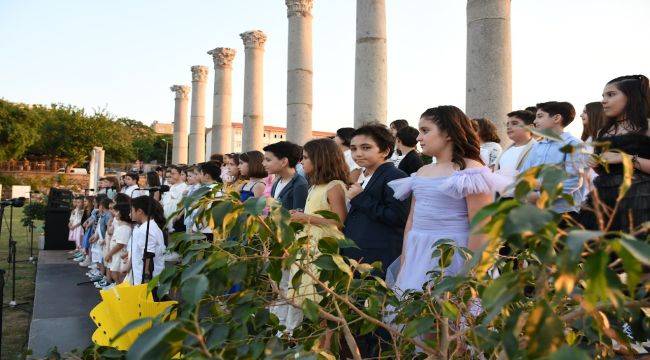
<path fill-rule="evenodd" d="M 289 18 L 287 57 L 287 140 L 312 138 L 312 16 L 314 0 L 285 0 Z"/>

